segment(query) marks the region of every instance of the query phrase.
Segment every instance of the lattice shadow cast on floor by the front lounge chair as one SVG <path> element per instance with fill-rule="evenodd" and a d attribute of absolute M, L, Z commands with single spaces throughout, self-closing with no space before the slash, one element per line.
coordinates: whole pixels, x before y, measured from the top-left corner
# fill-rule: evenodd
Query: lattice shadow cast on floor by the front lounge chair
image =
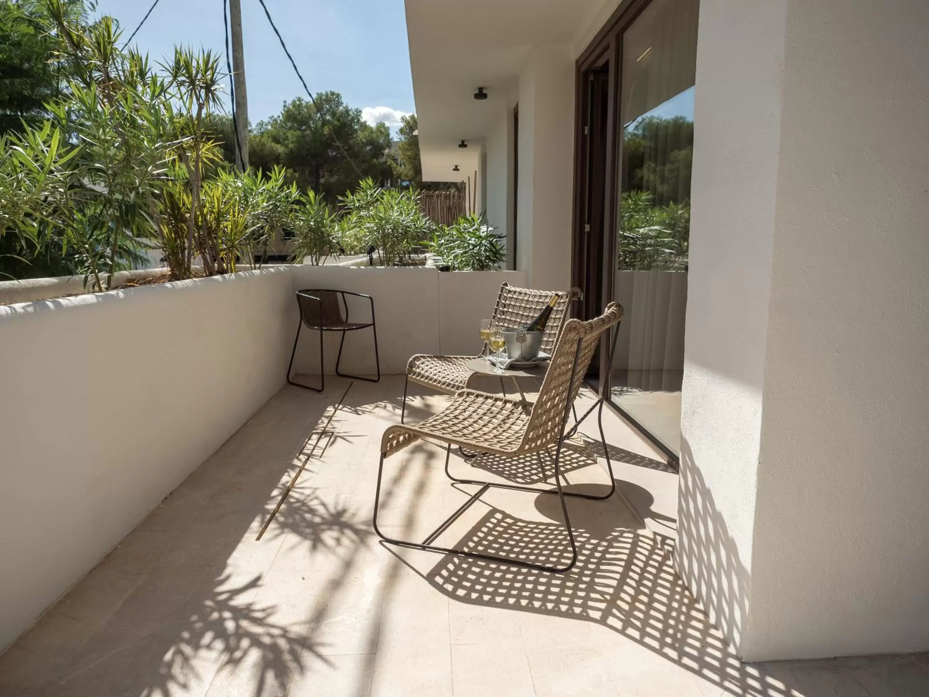
<path fill-rule="evenodd" d="M 589 485 L 585 491 L 590 491 Z M 491 507 L 452 546 L 533 563 L 565 565 L 570 550 L 563 524 L 557 522 L 561 518 L 558 499 L 539 496 L 536 507 L 552 521 L 517 519 Z M 765 679 L 759 666 L 739 662 L 674 572 L 658 540 L 614 527 L 614 517 L 607 507 L 572 502 L 569 508 L 578 560 L 566 573 L 451 555 L 442 557 L 423 573 L 403 561 L 429 585 L 458 602 L 608 627 L 732 694 L 797 694 L 779 680 Z"/>

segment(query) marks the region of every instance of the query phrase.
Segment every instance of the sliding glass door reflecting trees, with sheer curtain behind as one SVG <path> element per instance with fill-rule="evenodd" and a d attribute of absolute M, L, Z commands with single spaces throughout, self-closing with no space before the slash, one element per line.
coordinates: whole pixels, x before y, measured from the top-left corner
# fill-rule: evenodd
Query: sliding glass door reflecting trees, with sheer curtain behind
<path fill-rule="evenodd" d="M 625 309 L 612 370 L 607 380 L 598 376 L 597 385 L 630 421 L 677 455 L 698 0 L 632 1 L 624 6 L 628 10 L 592 51 L 609 46 L 608 64 L 616 71 L 608 123 L 614 150 L 606 153 L 603 178 L 606 203 L 600 217 L 582 208 L 575 234 L 584 225 L 589 228 L 589 220 L 606 221 L 602 231 L 594 230 L 603 235 L 602 266 L 608 270 L 599 274 L 603 281 L 597 281 L 598 292 Z M 579 77 L 589 70 L 579 62 Z M 594 147 L 593 142 L 581 143 L 587 151 Z M 587 170 L 590 157 L 582 151 L 579 158 Z M 594 260 L 580 265 L 588 267 L 579 271 L 587 287 L 598 275 L 590 268 L 595 265 Z"/>

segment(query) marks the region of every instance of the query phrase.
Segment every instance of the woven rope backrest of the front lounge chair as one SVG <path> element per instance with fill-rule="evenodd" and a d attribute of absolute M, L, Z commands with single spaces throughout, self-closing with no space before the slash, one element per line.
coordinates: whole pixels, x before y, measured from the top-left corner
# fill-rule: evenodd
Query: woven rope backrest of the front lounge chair
<path fill-rule="evenodd" d="M 622 305 L 609 303 L 603 314 L 593 320 L 569 320 L 565 323 L 539 397 L 532 405 L 520 450 L 540 450 L 558 440 L 569 406 L 581 389 L 583 377 L 600 343 L 600 336 L 621 320 Z"/>

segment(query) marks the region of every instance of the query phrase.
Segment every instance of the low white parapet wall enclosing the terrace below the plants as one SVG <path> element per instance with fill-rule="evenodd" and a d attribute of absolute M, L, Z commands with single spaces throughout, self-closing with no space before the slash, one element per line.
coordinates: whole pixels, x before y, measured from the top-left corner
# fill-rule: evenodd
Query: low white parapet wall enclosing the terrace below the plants
<path fill-rule="evenodd" d="M 0 652 L 285 384 L 294 290 L 373 296 L 382 372 L 400 373 L 476 352 L 500 283 L 524 279 L 273 267 L 0 307 Z M 345 370 L 373 371 L 367 331 Z M 303 332 L 298 362 L 318 346 Z"/>

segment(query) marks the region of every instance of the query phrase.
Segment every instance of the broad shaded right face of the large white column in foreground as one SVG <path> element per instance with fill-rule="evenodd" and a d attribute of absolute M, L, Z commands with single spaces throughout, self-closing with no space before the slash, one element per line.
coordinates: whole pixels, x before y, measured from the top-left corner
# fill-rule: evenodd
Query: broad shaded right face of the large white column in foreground
<path fill-rule="evenodd" d="M 927 36 L 788 3 L 749 657 L 929 649 Z"/>

